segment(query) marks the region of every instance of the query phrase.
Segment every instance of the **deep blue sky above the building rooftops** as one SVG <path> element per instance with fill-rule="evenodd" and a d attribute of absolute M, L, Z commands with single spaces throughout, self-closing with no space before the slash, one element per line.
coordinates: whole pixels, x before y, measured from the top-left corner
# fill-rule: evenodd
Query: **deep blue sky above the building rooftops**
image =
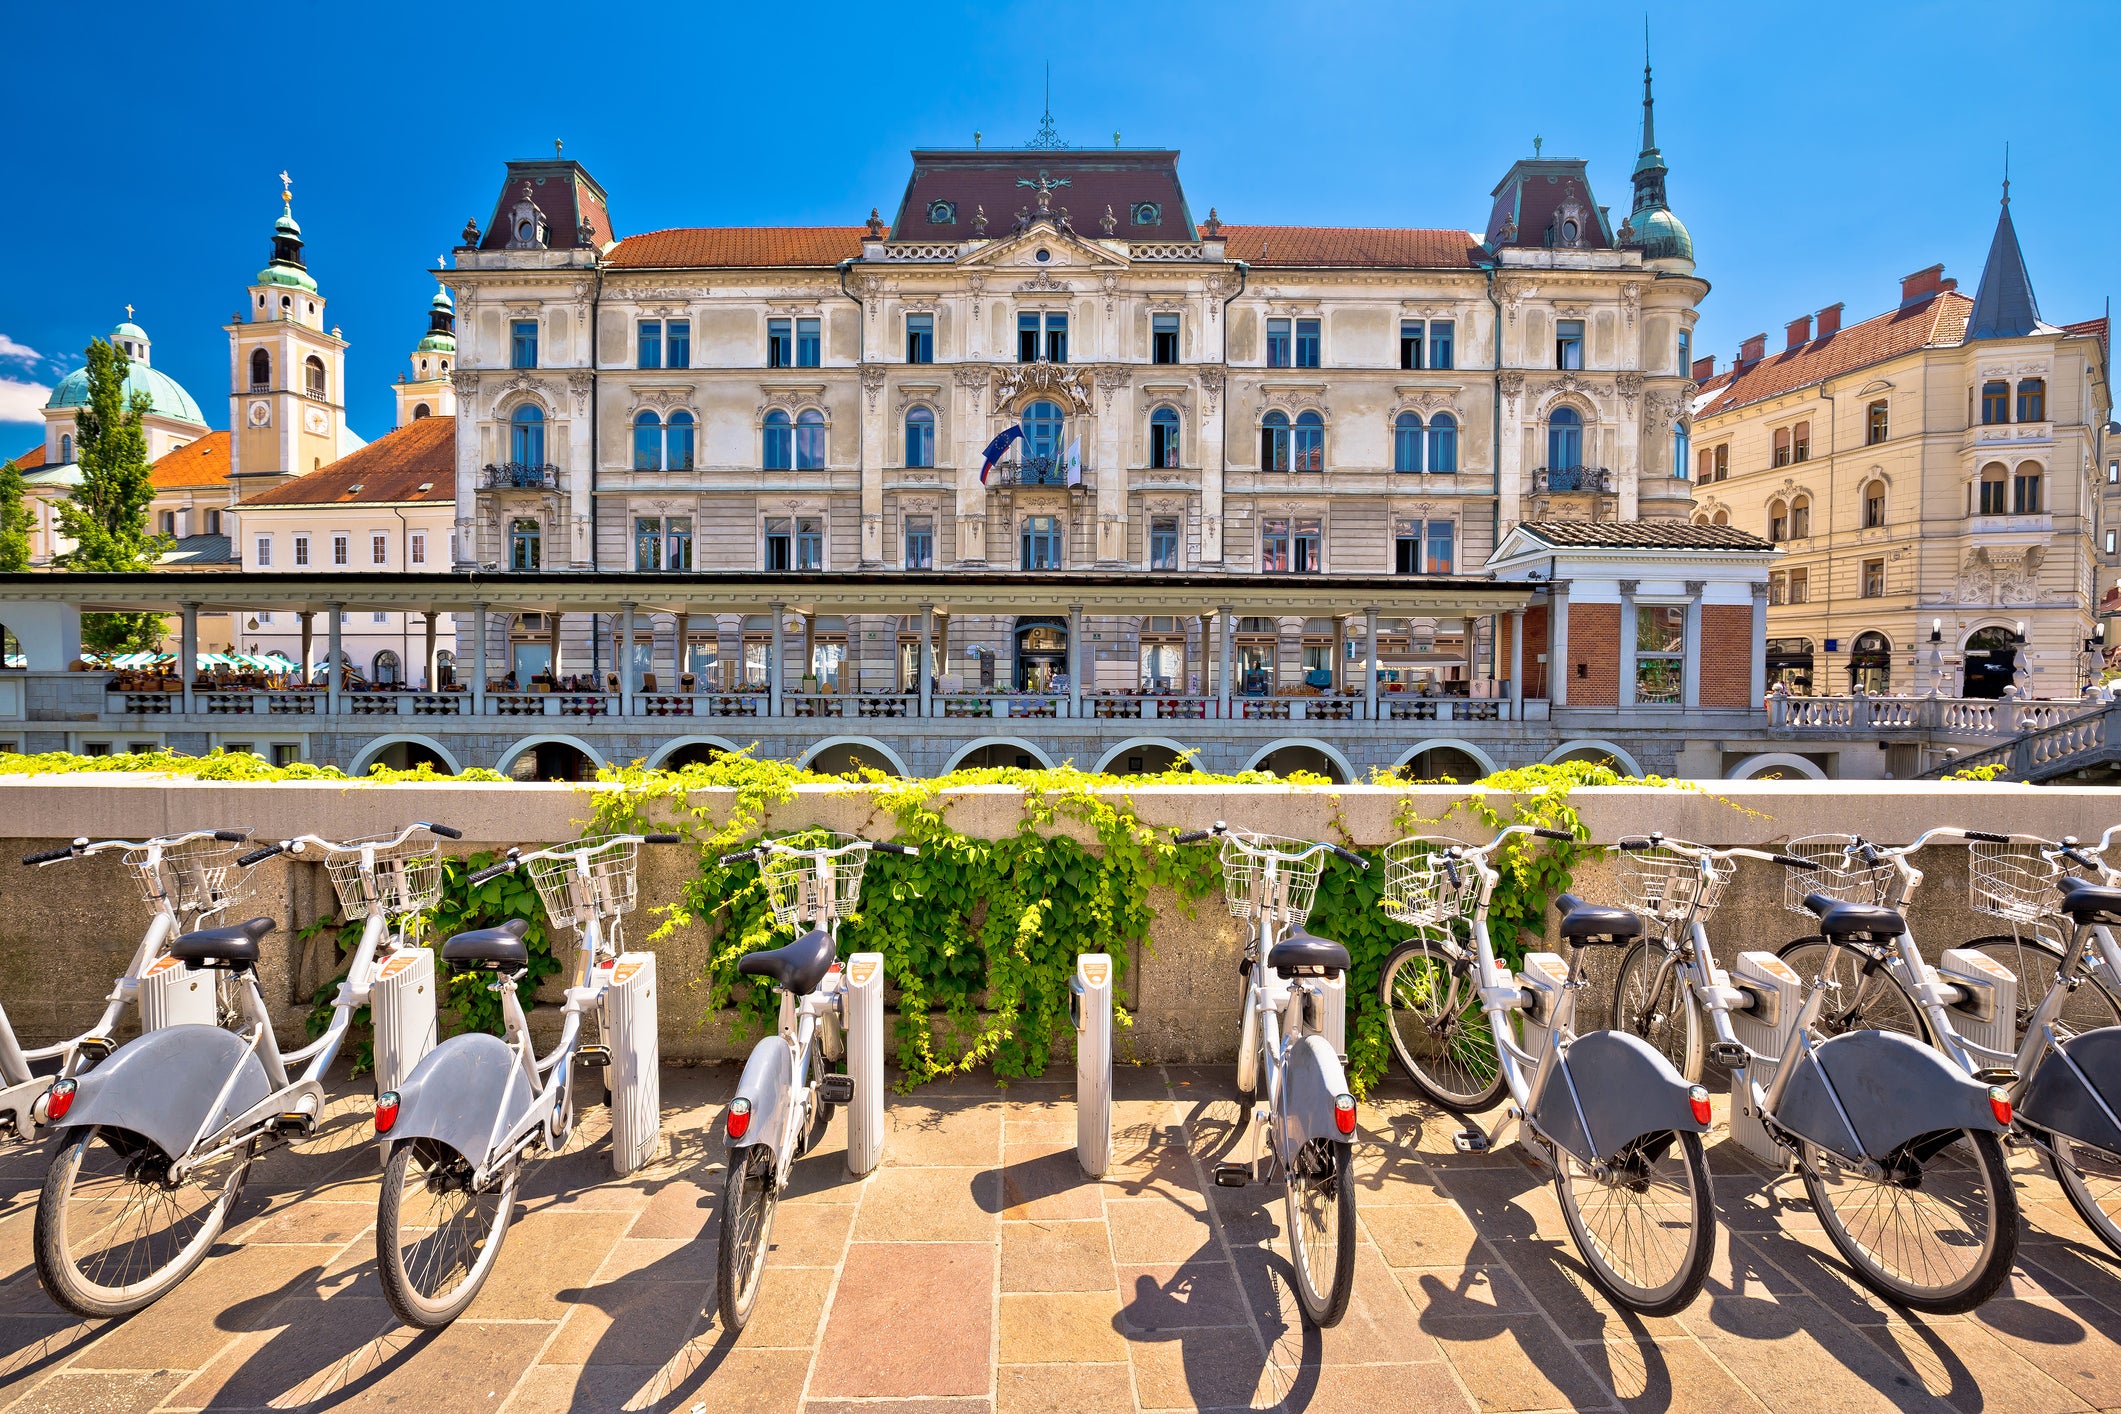
<path fill-rule="evenodd" d="M 1729 363 L 1756 331 L 1780 348 L 1786 320 L 1835 301 L 1875 314 L 1934 261 L 1970 290 L 2006 140 L 2043 316 L 2104 307 L 2121 6 L 1646 8 L 1671 204 L 1716 286 L 1697 352 Z M 621 233 L 855 225 L 891 214 L 908 148 L 1029 138 L 1050 59 L 1060 136 L 1179 148 L 1196 214 L 1480 227 L 1533 134 L 1589 157 L 1599 199 L 1627 210 L 1642 112 L 1642 8 L 1580 2 L 119 2 L 93 36 L 81 15 L 4 21 L 0 424 L 34 424 L 38 388 L 134 303 L 155 367 L 225 426 L 221 324 L 265 263 L 282 167 L 352 341 L 354 428 L 375 437 L 424 271 L 467 216 L 486 223 L 503 161 L 554 138 Z M 34 441 L 0 426 L 0 456 Z"/>

